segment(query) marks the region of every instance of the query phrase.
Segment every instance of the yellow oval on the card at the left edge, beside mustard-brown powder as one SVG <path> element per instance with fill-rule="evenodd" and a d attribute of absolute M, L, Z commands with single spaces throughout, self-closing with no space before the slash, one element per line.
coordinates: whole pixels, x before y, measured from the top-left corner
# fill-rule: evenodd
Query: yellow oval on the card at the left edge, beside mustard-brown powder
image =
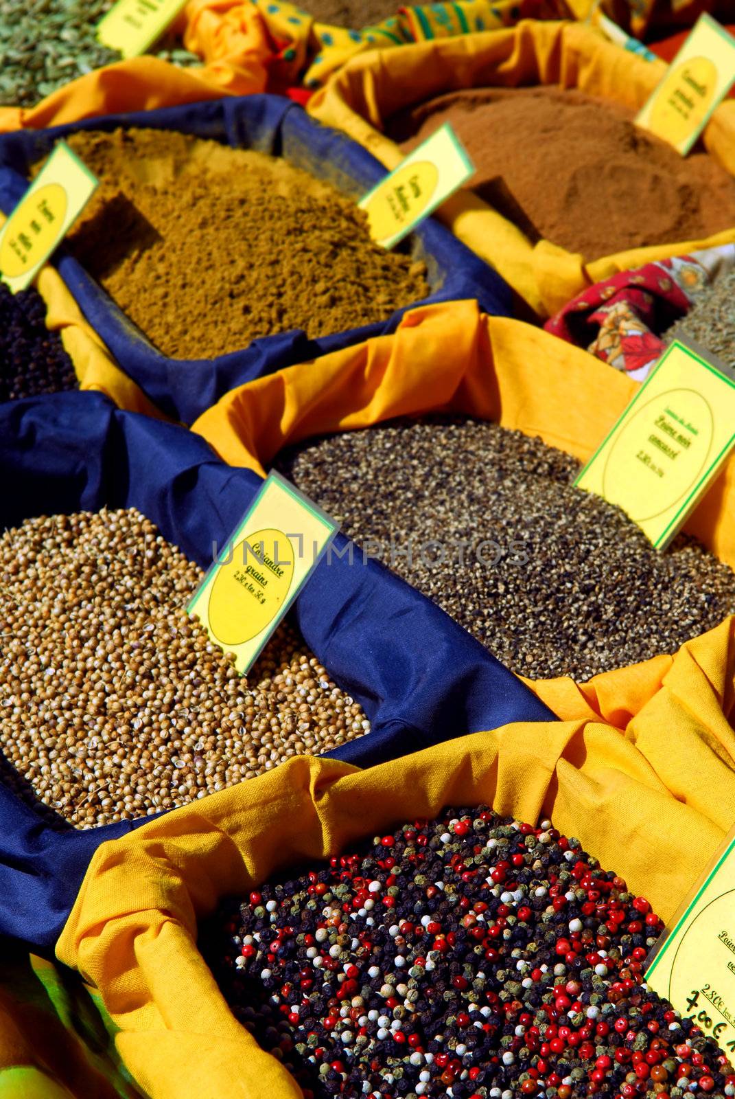
<path fill-rule="evenodd" d="M 56 245 L 58 227 L 66 218 L 68 199 L 60 184 L 46 184 L 15 207 L 0 244 L 0 271 L 19 278 L 34 266 L 36 256 L 48 255 Z"/>

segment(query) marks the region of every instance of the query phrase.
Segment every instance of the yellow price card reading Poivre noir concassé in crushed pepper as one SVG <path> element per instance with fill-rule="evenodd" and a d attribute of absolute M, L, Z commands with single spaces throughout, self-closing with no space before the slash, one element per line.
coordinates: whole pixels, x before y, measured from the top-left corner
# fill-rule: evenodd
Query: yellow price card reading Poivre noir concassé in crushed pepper
<path fill-rule="evenodd" d="M 735 445 L 735 376 L 675 341 L 577 477 L 664 550 Z"/>

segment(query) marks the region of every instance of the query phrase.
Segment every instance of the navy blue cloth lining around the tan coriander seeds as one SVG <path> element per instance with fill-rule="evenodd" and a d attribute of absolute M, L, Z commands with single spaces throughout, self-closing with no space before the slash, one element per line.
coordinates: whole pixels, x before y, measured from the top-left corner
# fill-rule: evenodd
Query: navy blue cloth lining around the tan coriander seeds
<path fill-rule="evenodd" d="M 202 567 L 261 484 L 183 428 L 94 392 L 0 406 L 0 530 L 32 515 L 135 507 Z M 338 537 L 342 551 L 347 540 Z M 363 553 L 323 557 L 292 614 L 369 735 L 331 753 L 369 766 L 468 732 L 554 714 L 414 588 Z M 255 780 L 257 781 L 257 779 Z M 174 810 L 176 811 L 176 810 Z M 0 933 L 49 950 L 97 846 L 145 823 L 58 832 L 0 782 Z"/>

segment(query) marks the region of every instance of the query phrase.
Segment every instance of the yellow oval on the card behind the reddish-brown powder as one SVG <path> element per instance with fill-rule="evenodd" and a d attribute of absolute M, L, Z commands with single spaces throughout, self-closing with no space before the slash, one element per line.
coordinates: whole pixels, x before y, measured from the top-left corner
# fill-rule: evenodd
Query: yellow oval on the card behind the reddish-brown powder
<path fill-rule="evenodd" d="M 648 129 L 672 145 L 686 142 L 704 125 L 717 88 L 717 69 L 709 57 L 681 62 L 666 76 L 650 111 Z"/>

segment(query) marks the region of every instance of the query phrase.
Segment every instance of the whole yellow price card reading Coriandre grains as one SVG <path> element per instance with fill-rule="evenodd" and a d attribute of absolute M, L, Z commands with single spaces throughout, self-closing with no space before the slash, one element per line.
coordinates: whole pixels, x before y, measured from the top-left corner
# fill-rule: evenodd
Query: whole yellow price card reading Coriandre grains
<path fill-rule="evenodd" d="M 280 474 L 271 473 L 189 607 L 244 675 L 337 533 L 330 519 Z"/>

